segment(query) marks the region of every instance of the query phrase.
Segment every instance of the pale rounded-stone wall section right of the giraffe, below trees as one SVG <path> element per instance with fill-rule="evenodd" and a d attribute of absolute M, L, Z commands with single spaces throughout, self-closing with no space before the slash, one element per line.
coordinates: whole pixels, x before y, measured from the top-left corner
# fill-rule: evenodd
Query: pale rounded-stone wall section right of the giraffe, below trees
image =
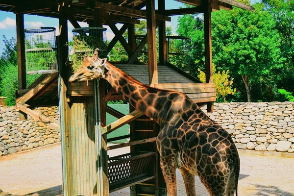
<path fill-rule="evenodd" d="M 215 103 L 204 112 L 239 149 L 294 152 L 294 102 Z"/>

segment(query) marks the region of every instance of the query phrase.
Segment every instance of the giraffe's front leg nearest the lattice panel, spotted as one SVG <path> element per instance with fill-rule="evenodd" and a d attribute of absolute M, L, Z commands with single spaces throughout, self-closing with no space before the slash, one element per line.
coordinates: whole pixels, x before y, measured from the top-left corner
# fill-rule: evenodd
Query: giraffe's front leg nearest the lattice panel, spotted
<path fill-rule="evenodd" d="M 160 167 L 167 184 L 168 196 L 176 196 L 176 163 L 172 158 L 161 158 Z"/>

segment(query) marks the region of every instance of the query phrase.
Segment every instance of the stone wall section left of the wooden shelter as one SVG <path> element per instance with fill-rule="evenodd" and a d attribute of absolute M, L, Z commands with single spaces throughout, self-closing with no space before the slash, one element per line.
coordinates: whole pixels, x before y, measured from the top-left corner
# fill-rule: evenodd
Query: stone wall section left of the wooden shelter
<path fill-rule="evenodd" d="M 59 118 L 57 107 L 39 110 L 56 120 Z M 60 142 L 59 132 L 31 118 L 20 121 L 15 107 L 0 107 L 0 156 L 56 142 Z"/>

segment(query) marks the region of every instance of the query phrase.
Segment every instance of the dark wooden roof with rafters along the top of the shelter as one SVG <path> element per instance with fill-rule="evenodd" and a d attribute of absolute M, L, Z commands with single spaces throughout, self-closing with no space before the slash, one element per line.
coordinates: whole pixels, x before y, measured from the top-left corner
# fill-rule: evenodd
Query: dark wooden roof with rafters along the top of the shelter
<path fill-rule="evenodd" d="M 146 0 L 1 0 L 0 10 L 15 14 L 31 14 L 58 18 L 58 13 L 67 13 L 69 20 L 89 22 L 94 20 L 93 10 L 105 10 L 117 23 L 139 24 L 137 19 L 146 18 Z M 172 10 L 156 10 L 156 19 L 170 21 L 169 16 L 202 13 L 206 0 L 176 0 L 196 7 Z M 167 2 L 167 1 L 166 1 Z M 235 0 L 211 0 L 213 10 L 232 9 L 232 6 L 254 11 L 252 6 Z M 105 23 L 105 21 L 104 21 Z"/>

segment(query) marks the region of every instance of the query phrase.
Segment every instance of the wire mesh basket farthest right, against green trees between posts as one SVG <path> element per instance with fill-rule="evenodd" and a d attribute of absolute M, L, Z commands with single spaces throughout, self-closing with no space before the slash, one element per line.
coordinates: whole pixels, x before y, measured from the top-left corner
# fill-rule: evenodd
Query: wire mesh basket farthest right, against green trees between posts
<path fill-rule="evenodd" d="M 191 69 L 191 38 L 183 36 L 167 36 L 168 61 L 189 73 Z"/>

